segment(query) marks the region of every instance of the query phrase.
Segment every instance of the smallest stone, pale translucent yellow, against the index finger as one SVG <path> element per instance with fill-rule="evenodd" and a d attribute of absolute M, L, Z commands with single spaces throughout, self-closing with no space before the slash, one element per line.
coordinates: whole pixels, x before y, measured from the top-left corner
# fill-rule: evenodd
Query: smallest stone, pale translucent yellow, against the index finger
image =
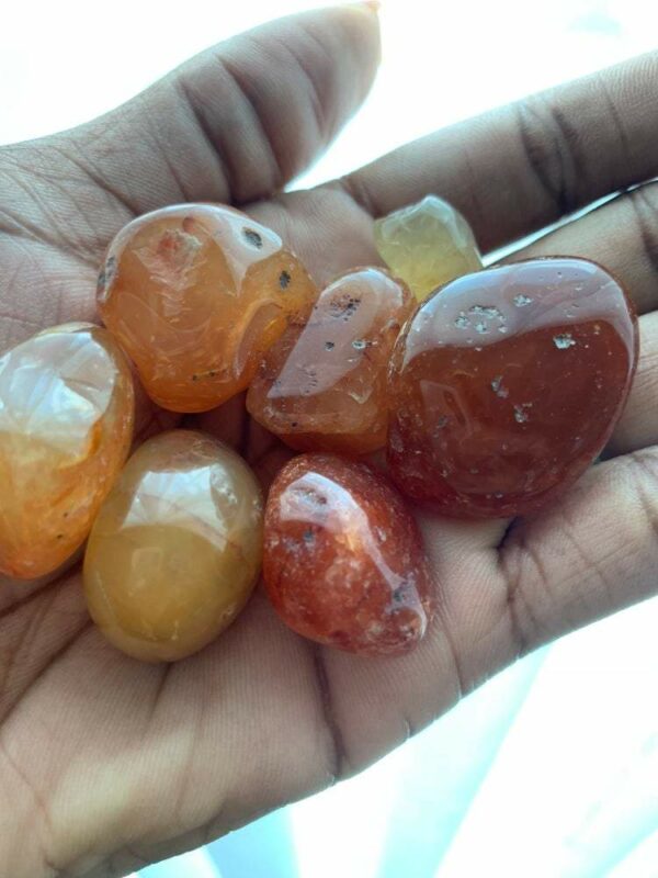
<path fill-rule="evenodd" d="M 420 302 L 438 286 L 483 267 L 470 226 L 436 195 L 377 219 L 375 244 Z"/>

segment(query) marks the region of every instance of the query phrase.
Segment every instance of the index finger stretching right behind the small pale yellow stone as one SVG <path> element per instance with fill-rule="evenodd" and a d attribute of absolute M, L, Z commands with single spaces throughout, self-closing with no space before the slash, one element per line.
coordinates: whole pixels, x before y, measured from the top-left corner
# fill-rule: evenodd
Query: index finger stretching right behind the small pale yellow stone
<path fill-rule="evenodd" d="M 342 184 L 374 216 L 428 192 L 483 250 L 658 172 L 658 54 L 640 56 L 424 137 Z"/>

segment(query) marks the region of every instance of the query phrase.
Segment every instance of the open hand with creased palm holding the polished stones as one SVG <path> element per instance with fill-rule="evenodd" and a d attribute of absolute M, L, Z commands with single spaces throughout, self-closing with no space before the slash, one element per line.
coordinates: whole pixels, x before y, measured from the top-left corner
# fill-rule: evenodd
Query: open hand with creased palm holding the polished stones
<path fill-rule="evenodd" d="M 91 626 L 77 565 L 2 583 L 0 862 L 12 878 L 123 875 L 214 838 L 358 772 L 518 656 L 656 590 L 658 189 L 644 181 L 658 175 L 658 55 L 281 194 L 359 105 L 377 57 L 372 4 L 314 12 L 219 45 L 81 128 L 2 147 L 0 349 L 92 319 L 106 243 L 164 204 L 238 205 L 322 283 L 376 261 L 373 217 L 429 191 L 486 252 L 621 190 L 514 255 L 599 260 L 643 315 L 608 459 L 527 519 L 419 516 L 440 612 L 404 657 L 318 649 L 257 594 L 202 653 L 141 665 Z M 174 421 L 144 398 L 138 412 L 140 437 Z M 186 423 L 231 441 L 264 480 L 283 460 L 241 398 Z"/>

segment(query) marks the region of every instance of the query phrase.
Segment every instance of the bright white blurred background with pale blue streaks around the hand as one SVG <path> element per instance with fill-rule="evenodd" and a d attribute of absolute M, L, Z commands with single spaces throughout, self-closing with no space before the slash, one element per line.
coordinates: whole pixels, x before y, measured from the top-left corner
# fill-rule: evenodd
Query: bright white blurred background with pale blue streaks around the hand
<path fill-rule="evenodd" d="M 207 45 L 313 5 L 12 3 L 0 143 L 83 122 Z M 658 34 L 648 0 L 384 0 L 381 15 L 375 88 L 295 187 L 651 49 Z M 657 632 L 658 600 L 590 626 L 353 780 L 139 878 L 657 878 Z"/>

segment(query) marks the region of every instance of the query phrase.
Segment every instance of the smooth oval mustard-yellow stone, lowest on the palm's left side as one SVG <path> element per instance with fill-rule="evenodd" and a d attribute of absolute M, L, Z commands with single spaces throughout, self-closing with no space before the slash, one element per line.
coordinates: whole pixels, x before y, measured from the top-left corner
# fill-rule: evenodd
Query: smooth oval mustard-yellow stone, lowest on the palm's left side
<path fill-rule="evenodd" d="M 131 458 L 93 526 L 89 611 L 128 655 L 184 658 L 232 622 L 261 556 L 261 493 L 245 461 L 204 434 L 160 434 Z"/>

